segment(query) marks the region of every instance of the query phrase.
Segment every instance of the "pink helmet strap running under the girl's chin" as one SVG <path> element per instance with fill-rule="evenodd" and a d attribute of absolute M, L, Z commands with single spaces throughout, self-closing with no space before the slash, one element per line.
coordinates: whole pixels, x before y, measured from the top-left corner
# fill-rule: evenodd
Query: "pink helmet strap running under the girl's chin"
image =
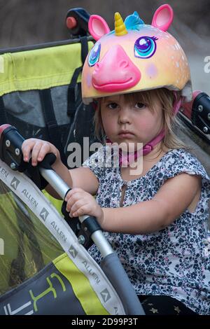
<path fill-rule="evenodd" d="M 176 92 L 174 92 L 174 97 L 175 97 L 175 102 L 174 102 L 174 108 L 173 108 L 173 113 L 174 116 L 176 116 L 176 114 L 178 113 L 181 104 L 182 104 L 182 98 L 179 100 L 179 102 L 177 102 L 177 95 Z M 160 132 L 160 134 L 158 134 L 158 136 L 156 136 L 154 139 L 152 139 L 151 141 L 148 142 L 148 144 L 146 144 L 143 149 L 141 148 L 141 150 L 123 155 L 122 150 L 119 150 L 119 164 L 120 166 L 122 165 L 129 165 L 129 163 L 134 162 L 135 160 L 137 160 L 139 158 L 139 156 L 144 156 L 147 155 L 149 153 L 151 153 L 151 151 L 153 151 L 153 148 L 160 143 L 160 141 L 162 141 L 162 139 L 164 139 L 165 137 L 165 131 L 162 130 Z M 112 143 L 110 139 L 106 139 L 106 143 Z"/>

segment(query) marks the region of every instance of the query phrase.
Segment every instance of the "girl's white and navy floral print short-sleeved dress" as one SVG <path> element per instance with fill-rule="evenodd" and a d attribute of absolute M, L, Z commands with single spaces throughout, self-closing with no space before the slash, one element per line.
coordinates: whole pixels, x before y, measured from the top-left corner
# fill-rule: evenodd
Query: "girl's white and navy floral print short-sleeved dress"
<path fill-rule="evenodd" d="M 200 201 L 193 214 L 186 210 L 167 228 L 151 234 L 104 232 L 104 235 L 118 254 L 137 295 L 167 295 L 198 314 L 210 314 L 207 229 L 210 183 L 204 167 L 183 148 L 172 149 L 145 176 L 123 181 L 120 167 L 107 166 L 107 147 L 99 148 L 83 163 L 99 180 L 97 202 L 101 207 L 120 207 L 123 186 L 126 186 L 123 207 L 127 207 L 151 200 L 162 184 L 176 175 L 202 176 Z M 91 246 L 89 253 L 100 264 L 102 258 L 97 247 Z"/>

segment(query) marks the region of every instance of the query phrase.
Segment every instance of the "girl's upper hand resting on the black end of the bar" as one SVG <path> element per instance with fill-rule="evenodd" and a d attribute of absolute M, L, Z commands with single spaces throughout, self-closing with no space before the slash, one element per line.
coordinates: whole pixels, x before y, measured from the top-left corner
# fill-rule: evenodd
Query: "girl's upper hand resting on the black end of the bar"
<path fill-rule="evenodd" d="M 48 153 L 55 154 L 57 160 L 60 160 L 59 151 L 48 141 L 30 138 L 26 139 L 22 143 L 23 160 L 25 162 L 29 162 L 31 158 L 31 164 L 34 167 L 38 164 L 38 162 L 41 162 Z"/>

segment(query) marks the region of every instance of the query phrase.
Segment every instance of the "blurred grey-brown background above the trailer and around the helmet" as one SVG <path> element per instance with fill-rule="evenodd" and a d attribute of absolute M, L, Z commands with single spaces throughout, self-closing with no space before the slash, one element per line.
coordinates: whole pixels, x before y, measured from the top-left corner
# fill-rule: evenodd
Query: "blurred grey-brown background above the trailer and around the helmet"
<path fill-rule="evenodd" d="M 190 62 L 194 90 L 210 94 L 210 1 L 209 0 L 0 0 L 0 48 L 31 45 L 69 38 L 66 12 L 82 7 L 90 14 L 102 15 L 113 29 L 113 15 L 123 19 L 137 10 L 146 24 L 163 3 L 174 9 L 169 33 L 178 38 Z M 208 58 L 209 57 L 209 58 Z M 209 72 L 204 71 L 204 67 Z"/>

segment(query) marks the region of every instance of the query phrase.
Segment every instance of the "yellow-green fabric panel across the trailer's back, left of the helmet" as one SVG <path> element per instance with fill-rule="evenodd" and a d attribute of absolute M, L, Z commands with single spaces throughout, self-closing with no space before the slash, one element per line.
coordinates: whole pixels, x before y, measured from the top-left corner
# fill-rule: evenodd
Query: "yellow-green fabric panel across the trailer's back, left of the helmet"
<path fill-rule="evenodd" d="M 92 45 L 89 41 L 89 50 Z M 15 91 L 69 85 L 73 72 L 83 64 L 80 53 L 81 44 L 72 43 L 1 55 L 0 96 Z"/>

